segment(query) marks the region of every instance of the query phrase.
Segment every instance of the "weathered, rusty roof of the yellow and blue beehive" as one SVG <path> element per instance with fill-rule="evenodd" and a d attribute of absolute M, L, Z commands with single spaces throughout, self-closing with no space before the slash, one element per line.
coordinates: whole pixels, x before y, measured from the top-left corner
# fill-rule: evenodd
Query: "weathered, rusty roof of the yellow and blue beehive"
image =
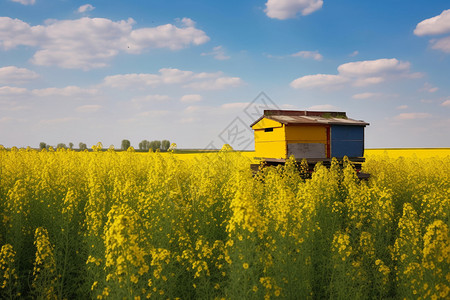
<path fill-rule="evenodd" d="M 274 120 L 282 124 L 304 124 L 304 125 L 353 125 L 366 126 L 362 120 L 354 120 L 347 117 L 345 112 L 340 111 L 299 111 L 299 110 L 264 110 L 264 115 L 253 122 L 250 127 L 263 118 Z"/>

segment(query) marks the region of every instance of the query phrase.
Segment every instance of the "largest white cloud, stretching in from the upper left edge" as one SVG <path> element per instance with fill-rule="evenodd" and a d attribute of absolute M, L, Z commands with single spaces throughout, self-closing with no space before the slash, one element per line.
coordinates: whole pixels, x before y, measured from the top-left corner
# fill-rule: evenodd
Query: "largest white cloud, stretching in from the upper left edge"
<path fill-rule="evenodd" d="M 133 29 L 133 19 L 114 22 L 105 18 L 49 20 L 30 26 L 19 19 L 0 17 L 0 47 L 36 47 L 31 61 L 69 69 L 92 69 L 107 65 L 121 52 L 139 54 L 147 49 L 179 50 L 209 40 L 195 23 L 184 18 L 181 26 L 165 24 Z"/>

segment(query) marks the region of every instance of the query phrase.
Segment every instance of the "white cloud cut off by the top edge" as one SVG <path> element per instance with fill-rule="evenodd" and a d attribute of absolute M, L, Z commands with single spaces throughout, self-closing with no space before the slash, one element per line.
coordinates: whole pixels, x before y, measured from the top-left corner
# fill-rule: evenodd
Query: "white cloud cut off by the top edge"
<path fill-rule="evenodd" d="M 301 12 L 309 15 L 322 8 L 322 0 L 268 0 L 264 12 L 269 18 L 286 20 L 295 18 Z"/>

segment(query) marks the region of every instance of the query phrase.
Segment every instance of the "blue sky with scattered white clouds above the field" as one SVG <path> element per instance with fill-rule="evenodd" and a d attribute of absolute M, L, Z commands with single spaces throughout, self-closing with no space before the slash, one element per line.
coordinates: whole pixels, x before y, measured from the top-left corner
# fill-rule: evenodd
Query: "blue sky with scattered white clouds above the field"
<path fill-rule="evenodd" d="M 368 148 L 449 147 L 449 78 L 444 0 L 0 1 L 8 147 L 251 149 L 265 104 L 346 111 Z"/>

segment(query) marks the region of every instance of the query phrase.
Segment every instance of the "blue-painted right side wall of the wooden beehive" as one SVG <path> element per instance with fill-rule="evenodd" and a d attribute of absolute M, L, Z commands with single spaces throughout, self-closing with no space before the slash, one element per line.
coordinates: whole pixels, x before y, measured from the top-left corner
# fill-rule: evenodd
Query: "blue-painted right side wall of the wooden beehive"
<path fill-rule="evenodd" d="M 364 126 L 331 126 L 331 157 L 364 156 Z"/>

